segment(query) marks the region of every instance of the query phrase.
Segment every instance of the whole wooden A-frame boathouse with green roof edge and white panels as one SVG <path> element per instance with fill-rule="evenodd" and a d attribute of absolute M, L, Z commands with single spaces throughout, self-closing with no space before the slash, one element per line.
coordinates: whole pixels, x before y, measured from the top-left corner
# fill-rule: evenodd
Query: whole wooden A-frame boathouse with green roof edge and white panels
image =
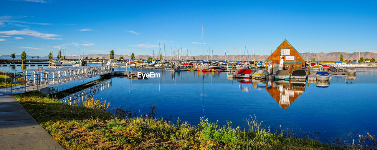
<path fill-rule="evenodd" d="M 280 58 L 280 56 L 283 58 Z M 290 73 L 292 73 L 293 66 L 305 65 L 306 62 L 305 58 L 286 39 L 284 39 L 266 61 L 272 62 L 274 73 L 277 71 L 280 63 L 283 63 L 284 66 L 289 66 Z"/>

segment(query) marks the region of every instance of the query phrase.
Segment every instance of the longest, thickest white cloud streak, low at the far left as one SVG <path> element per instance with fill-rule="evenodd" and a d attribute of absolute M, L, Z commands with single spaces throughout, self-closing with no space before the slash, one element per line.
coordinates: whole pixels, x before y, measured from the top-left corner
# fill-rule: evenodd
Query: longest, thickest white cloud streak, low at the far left
<path fill-rule="evenodd" d="M 40 38 L 43 38 L 43 39 L 57 39 L 57 38 L 54 38 L 54 36 L 59 36 L 57 34 L 40 33 L 38 31 L 28 30 L 28 29 L 0 31 L 0 34 L 6 34 L 6 35 L 28 35 L 28 36 L 40 37 Z"/>

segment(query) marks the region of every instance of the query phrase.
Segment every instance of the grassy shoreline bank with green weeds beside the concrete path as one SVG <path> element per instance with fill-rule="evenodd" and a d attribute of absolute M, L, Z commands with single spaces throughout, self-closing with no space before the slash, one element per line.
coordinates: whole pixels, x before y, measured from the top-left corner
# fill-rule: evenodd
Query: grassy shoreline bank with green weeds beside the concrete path
<path fill-rule="evenodd" d="M 353 150 L 359 148 L 330 146 L 312 139 L 284 136 L 261 127 L 262 121 L 251 117 L 249 129 L 242 131 L 225 125 L 208 122 L 193 126 L 187 122 L 176 123 L 151 115 L 135 115 L 132 110 L 119 111 L 124 117 L 109 113 L 104 101 L 90 99 L 84 106 L 67 105 L 41 93 L 28 92 L 14 95 L 21 105 L 64 148 L 74 149 L 292 149 L 292 150 Z M 84 102 L 85 103 L 85 102 Z M 95 107 L 94 105 L 98 105 Z M 152 106 L 156 109 L 156 106 Z M 118 115 L 119 116 L 119 115 Z M 135 117 L 139 116 L 139 117 Z M 356 142 L 355 142 L 356 144 Z M 356 144 L 357 146 L 357 144 Z"/>

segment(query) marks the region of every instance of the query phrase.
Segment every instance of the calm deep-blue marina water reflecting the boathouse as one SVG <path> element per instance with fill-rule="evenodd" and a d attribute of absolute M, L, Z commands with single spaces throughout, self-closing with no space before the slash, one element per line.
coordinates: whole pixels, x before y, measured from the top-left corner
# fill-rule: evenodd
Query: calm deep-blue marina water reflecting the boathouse
<path fill-rule="evenodd" d="M 7 71 L 6 68 L 9 67 L 0 70 Z M 157 106 L 156 116 L 172 116 L 172 120 L 179 117 L 192 124 L 198 124 L 199 117 L 206 117 L 212 122 L 232 121 L 234 126 L 247 128 L 245 119 L 256 115 L 274 130 L 293 130 L 302 136 L 310 135 L 309 131 L 320 132 L 310 137 L 323 142 L 328 138 L 352 141 L 357 139 L 356 132 L 377 135 L 376 68 L 357 68 L 353 76 L 333 76 L 329 84 L 322 85 L 325 87 L 319 87 L 321 84 L 315 81 L 228 80 L 227 73 L 215 72 L 131 71 L 155 72 L 161 77 L 146 80 L 114 77 L 112 86 L 94 97 L 110 101 L 112 107 L 133 108 L 142 114 L 153 104 Z M 98 78 L 84 82 L 95 79 Z"/>

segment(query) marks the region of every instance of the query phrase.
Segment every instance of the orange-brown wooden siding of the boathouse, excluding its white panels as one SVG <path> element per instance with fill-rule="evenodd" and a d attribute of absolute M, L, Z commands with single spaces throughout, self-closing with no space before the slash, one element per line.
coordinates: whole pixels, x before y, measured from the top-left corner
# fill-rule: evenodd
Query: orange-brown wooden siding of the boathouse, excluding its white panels
<path fill-rule="evenodd" d="M 305 58 L 302 58 L 300 56 L 300 53 L 297 52 L 296 50 L 294 50 L 294 47 L 292 45 L 290 45 L 287 40 L 284 40 L 280 44 L 280 46 L 275 49 L 275 51 L 267 58 L 267 61 L 272 61 L 272 63 L 280 63 L 280 49 L 281 48 L 289 48 L 290 49 L 290 55 L 294 56 L 294 60 L 285 60 L 286 55 L 284 55 L 284 59 L 283 59 L 284 62 L 287 62 L 284 65 L 290 65 L 291 66 L 291 69 L 290 69 L 291 73 L 293 72 L 292 65 L 294 66 L 294 65 L 300 65 L 300 64 L 288 63 L 288 62 L 301 62 L 302 65 L 305 65 Z"/>

